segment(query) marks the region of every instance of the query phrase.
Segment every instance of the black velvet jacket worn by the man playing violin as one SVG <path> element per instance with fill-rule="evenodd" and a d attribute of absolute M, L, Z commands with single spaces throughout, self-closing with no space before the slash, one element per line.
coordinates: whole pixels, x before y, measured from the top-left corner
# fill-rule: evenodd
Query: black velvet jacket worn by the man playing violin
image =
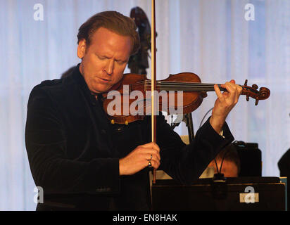
<path fill-rule="evenodd" d="M 233 136 L 209 121 L 186 146 L 163 116 L 157 119 L 160 169 L 189 184 Z M 119 159 L 151 141 L 151 119 L 111 124 L 90 93 L 79 66 L 65 79 L 44 81 L 28 101 L 25 143 L 30 169 L 44 191 L 37 210 L 149 210 L 149 169 L 119 175 Z M 172 198 L 172 196 L 171 196 Z"/>

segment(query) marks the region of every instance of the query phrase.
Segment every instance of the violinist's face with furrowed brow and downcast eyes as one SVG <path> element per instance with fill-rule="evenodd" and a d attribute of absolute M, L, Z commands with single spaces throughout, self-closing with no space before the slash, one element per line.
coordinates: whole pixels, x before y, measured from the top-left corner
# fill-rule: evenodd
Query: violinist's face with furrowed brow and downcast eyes
<path fill-rule="evenodd" d="M 122 79 L 130 58 L 132 41 L 100 27 L 92 35 L 91 44 L 79 41 L 77 56 L 82 58 L 80 72 L 93 93 L 104 93 Z"/>

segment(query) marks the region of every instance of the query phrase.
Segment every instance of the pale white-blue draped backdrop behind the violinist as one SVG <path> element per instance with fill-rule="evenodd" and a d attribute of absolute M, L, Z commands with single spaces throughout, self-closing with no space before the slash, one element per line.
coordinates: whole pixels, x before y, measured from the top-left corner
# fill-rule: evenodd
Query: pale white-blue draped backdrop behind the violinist
<path fill-rule="evenodd" d="M 248 3 L 255 20 L 244 18 Z M 35 4 L 42 4 L 44 20 L 34 20 Z M 150 20 L 148 0 L 0 0 L 0 210 L 36 206 L 24 143 L 32 87 L 80 62 L 76 35 L 87 18 L 106 10 L 130 15 L 134 6 Z M 277 162 L 290 148 L 289 19 L 290 0 L 156 0 L 158 79 L 194 72 L 203 82 L 248 79 L 270 89 L 258 106 L 241 96 L 227 118 L 236 140 L 259 144 L 263 176 L 279 176 Z M 194 112 L 195 131 L 214 101 L 208 93 Z M 187 134 L 184 124 L 175 130 Z"/>

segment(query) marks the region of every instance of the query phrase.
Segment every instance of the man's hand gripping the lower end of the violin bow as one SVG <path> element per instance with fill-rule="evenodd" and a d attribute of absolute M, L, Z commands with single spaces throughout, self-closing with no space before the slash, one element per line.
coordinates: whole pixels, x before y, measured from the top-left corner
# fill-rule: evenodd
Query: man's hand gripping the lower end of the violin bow
<path fill-rule="evenodd" d="M 132 175 L 148 167 L 149 161 L 153 168 L 160 165 L 160 148 L 156 143 L 146 143 L 138 146 L 125 158 L 119 160 L 120 175 Z M 152 159 L 151 159 L 152 155 Z"/>

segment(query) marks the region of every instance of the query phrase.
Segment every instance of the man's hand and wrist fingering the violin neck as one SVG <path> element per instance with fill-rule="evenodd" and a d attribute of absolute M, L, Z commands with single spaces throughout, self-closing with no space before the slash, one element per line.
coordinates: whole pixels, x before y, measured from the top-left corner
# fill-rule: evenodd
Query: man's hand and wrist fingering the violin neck
<path fill-rule="evenodd" d="M 217 100 L 215 101 L 215 106 L 213 107 L 213 112 L 210 117 L 210 125 L 218 134 L 222 131 L 222 126 L 225 123 L 227 115 L 239 101 L 239 96 L 243 89 L 241 86 L 237 85 L 233 79 L 220 86 L 227 89 L 227 91 L 222 93 L 217 84 L 215 84 L 214 88 L 215 94 L 217 94 Z"/>

